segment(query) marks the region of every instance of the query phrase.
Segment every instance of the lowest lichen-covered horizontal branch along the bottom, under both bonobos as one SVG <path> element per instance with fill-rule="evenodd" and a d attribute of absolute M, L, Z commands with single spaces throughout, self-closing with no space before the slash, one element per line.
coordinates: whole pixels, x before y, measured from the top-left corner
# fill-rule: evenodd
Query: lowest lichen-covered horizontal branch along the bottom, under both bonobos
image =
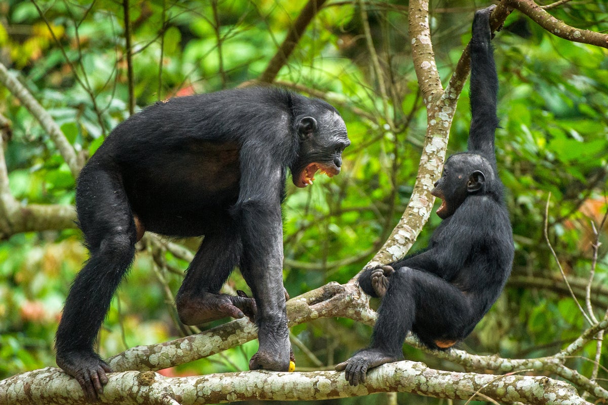
<path fill-rule="evenodd" d="M 125 372 L 109 375 L 100 403 L 215 404 L 223 402 L 329 400 L 379 392 L 412 392 L 434 398 L 491 398 L 530 405 L 590 405 L 574 387 L 544 376 L 488 375 L 446 372 L 425 364 L 400 361 L 384 364 L 352 387 L 343 372 L 248 371 L 192 377 Z M 479 393 L 480 395 L 475 395 Z M 75 379 L 54 367 L 0 381 L 0 403 L 76 404 L 83 393 Z"/>

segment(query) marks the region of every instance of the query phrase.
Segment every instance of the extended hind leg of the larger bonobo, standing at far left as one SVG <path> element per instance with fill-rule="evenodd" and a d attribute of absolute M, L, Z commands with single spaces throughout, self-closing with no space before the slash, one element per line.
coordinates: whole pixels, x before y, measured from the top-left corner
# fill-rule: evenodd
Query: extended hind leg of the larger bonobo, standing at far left
<path fill-rule="evenodd" d="M 67 295 L 55 347 L 57 365 L 95 401 L 111 370 L 93 351 L 93 342 L 133 260 L 136 228 L 120 180 L 95 166 L 87 166 L 78 178 L 76 207 L 91 256 Z"/>

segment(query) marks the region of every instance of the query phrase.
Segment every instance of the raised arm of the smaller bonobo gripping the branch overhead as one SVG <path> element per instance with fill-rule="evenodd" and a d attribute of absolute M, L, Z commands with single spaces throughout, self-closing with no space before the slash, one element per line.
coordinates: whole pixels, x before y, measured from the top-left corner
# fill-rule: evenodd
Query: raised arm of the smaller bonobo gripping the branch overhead
<path fill-rule="evenodd" d="M 471 129 L 468 149 L 488 158 L 496 171 L 494 131 L 498 128 L 496 104 L 498 76 L 490 44 L 489 18 L 495 5 L 479 10 L 473 19 L 473 36 L 469 43 L 471 53 Z"/>

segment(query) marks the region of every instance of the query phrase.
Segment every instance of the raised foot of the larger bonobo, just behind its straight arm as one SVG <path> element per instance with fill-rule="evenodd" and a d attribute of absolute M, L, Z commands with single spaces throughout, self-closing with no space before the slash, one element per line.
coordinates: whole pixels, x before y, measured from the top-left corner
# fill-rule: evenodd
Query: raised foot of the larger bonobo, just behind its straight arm
<path fill-rule="evenodd" d="M 239 291 L 238 294 L 232 296 L 204 293 L 197 298 L 178 296 L 176 304 L 179 320 L 185 325 L 200 325 L 226 316 L 232 318 L 248 316 L 249 319 L 254 319 L 257 313 L 255 300 L 247 297 L 243 291 Z"/>

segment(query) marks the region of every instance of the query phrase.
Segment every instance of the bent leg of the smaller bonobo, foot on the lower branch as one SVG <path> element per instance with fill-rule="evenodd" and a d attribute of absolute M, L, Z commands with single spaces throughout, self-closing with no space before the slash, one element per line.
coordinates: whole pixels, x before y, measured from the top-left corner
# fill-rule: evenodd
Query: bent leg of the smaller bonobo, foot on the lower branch
<path fill-rule="evenodd" d="M 336 366 L 356 386 L 367 370 L 403 358 L 401 346 L 413 330 L 430 347 L 435 341 L 457 341 L 470 318 L 463 293 L 440 277 L 401 267 L 390 276 L 371 335 L 371 344 Z"/>

